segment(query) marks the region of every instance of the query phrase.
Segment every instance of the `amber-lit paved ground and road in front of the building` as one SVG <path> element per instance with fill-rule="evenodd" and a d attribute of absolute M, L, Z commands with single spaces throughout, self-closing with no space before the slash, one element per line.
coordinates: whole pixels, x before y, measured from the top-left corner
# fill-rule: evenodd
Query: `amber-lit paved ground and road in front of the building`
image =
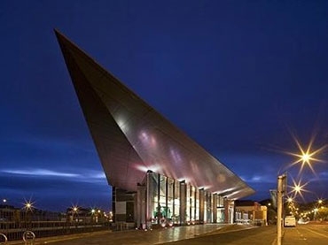
<path fill-rule="evenodd" d="M 328 226 L 297 226 L 284 229 L 282 244 L 328 244 Z M 110 245 L 110 244 L 277 244 L 276 226 L 205 225 L 179 226 L 152 231 L 98 232 L 42 238 L 36 244 Z M 9 244 L 24 244 L 10 242 Z"/>

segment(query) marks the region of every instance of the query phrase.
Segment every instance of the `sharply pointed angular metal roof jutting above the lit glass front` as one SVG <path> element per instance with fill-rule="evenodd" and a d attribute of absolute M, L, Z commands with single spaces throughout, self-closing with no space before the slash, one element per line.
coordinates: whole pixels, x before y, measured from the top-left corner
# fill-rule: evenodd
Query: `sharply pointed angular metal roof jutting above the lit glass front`
<path fill-rule="evenodd" d="M 230 199 L 254 194 L 207 150 L 55 32 L 110 185 L 136 191 L 152 170 Z"/>

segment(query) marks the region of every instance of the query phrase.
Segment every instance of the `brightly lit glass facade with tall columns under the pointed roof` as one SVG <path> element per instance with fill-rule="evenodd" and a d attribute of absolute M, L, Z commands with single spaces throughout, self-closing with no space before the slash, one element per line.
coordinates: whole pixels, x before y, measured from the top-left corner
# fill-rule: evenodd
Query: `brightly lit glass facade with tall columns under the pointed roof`
<path fill-rule="evenodd" d="M 148 220 L 152 225 L 224 221 L 223 197 L 160 175 L 147 173 Z M 183 213 L 181 213 L 183 212 Z"/>

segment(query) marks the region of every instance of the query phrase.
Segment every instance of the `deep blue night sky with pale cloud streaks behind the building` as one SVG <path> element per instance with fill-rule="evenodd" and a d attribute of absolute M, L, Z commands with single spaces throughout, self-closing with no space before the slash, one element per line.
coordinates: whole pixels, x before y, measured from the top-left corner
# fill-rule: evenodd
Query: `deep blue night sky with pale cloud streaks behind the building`
<path fill-rule="evenodd" d="M 328 198 L 326 1 L 0 1 L 0 197 L 110 209 L 105 179 L 53 28 L 256 190 L 277 172 Z M 327 149 L 315 157 L 328 160 Z M 290 178 L 292 184 L 292 178 Z"/>

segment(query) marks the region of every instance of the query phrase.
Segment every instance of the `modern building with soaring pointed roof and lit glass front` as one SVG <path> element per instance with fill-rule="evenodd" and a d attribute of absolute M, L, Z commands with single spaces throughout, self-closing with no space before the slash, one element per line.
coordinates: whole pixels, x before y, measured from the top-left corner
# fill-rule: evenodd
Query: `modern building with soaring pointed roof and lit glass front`
<path fill-rule="evenodd" d="M 113 187 L 114 222 L 232 223 L 233 201 L 254 189 L 55 32 Z"/>

